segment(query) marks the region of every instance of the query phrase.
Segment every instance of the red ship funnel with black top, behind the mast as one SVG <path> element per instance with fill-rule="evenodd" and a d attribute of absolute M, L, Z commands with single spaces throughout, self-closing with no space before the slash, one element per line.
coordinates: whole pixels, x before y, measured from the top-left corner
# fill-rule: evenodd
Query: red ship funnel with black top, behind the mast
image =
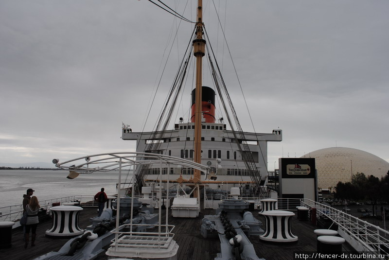
<path fill-rule="evenodd" d="M 196 89 L 192 90 L 191 122 L 195 122 L 195 101 Z M 202 87 L 201 111 L 202 121 L 207 123 L 215 122 L 215 91 L 211 87 Z"/>

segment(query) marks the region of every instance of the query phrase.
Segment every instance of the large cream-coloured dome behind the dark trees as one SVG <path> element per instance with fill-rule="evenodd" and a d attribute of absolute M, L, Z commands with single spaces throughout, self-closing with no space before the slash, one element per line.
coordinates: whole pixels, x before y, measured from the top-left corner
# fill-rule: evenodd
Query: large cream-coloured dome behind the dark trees
<path fill-rule="evenodd" d="M 389 162 L 368 152 L 347 148 L 330 147 L 313 151 L 301 158 L 315 158 L 318 171 L 318 188 L 334 187 L 339 181 L 351 181 L 352 174 L 365 173 L 378 178 L 389 171 Z"/>

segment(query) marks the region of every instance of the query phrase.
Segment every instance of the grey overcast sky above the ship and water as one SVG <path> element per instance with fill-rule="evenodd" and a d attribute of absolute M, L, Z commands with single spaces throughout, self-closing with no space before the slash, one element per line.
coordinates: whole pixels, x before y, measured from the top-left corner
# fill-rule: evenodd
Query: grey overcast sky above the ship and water
<path fill-rule="evenodd" d="M 195 0 L 164 2 L 195 20 Z M 269 170 L 279 157 L 335 146 L 389 161 L 388 0 L 214 4 L 254 128 L 212 1 L 203 1 L 204 22 L 242 128 L 283 130 L 268 144 Z M 147 0 L 1 0 L 0 162 L 134 151 L 122 122 L 142 130 L 179 28 L 145 127 L 153 129 L 193 30 L 180 21 Z M 185 88 L 177 117 L 188 116 L 192 82 Z"/>

